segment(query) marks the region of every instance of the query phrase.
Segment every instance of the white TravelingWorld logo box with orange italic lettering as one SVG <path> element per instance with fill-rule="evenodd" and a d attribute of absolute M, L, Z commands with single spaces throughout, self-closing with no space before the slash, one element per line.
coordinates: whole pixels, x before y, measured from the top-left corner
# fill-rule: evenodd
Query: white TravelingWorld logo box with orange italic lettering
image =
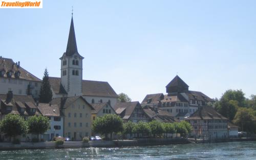
<path fill-rule="evenodd" d="M 0 8 L 42 8 L 42 0 L 2 0 Z"/>

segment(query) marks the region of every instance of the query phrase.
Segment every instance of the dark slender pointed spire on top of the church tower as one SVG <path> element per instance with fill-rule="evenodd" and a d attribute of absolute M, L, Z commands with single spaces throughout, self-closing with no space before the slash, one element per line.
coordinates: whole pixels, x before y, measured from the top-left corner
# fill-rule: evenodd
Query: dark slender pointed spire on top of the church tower
<path fill-rule="evenodd" d="M 66 50 L 66 56 L 72 56 L 77 51 L 76 46 L 76 35 L 75 35 L 75 29 L 74 29 L 74 22 L 73 22 L 73 11 L 72 11 L 72 18 L 71 18 L 71 24 L 70 24 L 70 30 L 69 30 L 69 40 Z"/>

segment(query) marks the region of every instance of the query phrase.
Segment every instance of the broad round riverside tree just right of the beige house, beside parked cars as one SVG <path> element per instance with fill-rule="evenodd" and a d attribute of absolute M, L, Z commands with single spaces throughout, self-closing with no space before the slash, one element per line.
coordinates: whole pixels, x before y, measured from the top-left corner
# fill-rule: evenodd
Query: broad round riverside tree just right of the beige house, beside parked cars
<path fill-rule="evenodd" d="M 114 114 L 106 114 L 102 117 L 96 117 L 93 121 L 93 130 L 100 134 L 105 134 L 105 138 L 110 134 L 112 140 L 113 132 L 123 131 L 123 120 Z"/>

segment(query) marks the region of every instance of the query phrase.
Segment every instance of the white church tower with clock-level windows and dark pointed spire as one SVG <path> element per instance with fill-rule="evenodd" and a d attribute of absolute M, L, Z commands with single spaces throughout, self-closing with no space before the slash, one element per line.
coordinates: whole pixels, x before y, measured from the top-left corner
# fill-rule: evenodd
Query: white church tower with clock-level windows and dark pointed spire
<path fill-rule="evenodd" d="M 69 39 L 67 50 L 61 60 L 61 85 L 68 93 L 68 97 L 82 95 L 82 60 L 84 58 L 78 54 L 76 36 L 71 18 Z"/>

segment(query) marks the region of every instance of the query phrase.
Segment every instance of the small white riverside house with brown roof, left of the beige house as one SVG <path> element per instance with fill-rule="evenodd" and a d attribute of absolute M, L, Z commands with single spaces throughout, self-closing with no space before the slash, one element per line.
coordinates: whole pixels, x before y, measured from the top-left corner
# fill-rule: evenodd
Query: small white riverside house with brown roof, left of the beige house
<path fill-rule="evenodd" d="M 61 115 L 60 108 L 56 104 L 38 103 L 37 105 L 40 113 L 50 120 L 50 129 L 42 135 L 45 141 L 53 140 L 54 137 L 63 136 L 63 115 Z"/>

